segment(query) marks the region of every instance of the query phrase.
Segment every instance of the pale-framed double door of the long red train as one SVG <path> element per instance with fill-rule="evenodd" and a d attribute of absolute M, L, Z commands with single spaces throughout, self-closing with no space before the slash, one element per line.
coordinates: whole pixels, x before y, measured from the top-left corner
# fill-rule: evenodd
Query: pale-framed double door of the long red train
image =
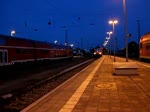
<path fill-rule="evenodd" d="M 0 66 L 8 63 L 8 52 L 7 50 L 0 50 Z"/>

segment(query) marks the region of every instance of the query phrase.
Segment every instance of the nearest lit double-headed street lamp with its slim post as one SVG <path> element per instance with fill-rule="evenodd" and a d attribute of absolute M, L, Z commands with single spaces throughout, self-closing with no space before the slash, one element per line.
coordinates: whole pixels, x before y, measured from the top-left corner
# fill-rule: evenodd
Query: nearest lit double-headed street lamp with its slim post
<path fill-rule="evenodd" d="M 118 21 L 117 20 L 110 20 L 109 24 L 112 24 L 113 26 L 113 38 L 114 38 L 114 62 L 116 61 L 115 59 L 115 50 L 116 50 L 116 36 L 115 36 L 115 24 L 117 24 Z"/>

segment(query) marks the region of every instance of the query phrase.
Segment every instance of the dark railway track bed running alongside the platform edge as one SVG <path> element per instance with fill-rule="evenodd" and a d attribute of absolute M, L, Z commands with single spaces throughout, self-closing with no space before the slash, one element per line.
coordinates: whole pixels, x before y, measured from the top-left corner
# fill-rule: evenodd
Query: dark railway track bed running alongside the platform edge
<path fill-rule="evenodd" d="M 64 81 L 72 77 L 75 73 L 82 70 L 84 67 L 86 67 L 89 63 L 92 63 L 93 61 L 93 59 L 79 60 L 78 62 L 70 64 L 69 67 L 65 66 L 65 69 L 65 63 L 63 63 L 63 67 L 60 67 L 61 69 L 57 68 L 57 72 L 56 69 L 54 69 L 53 75 L 47 78 L 45 77 L 42 80 L 35 81 L 35 79 L 30 79 L 30 82 L 32 83 L 28 83 L 28 85 L 22 85 L 23 82 L 18 82 L 18 84 L 20 84 L 18 88 L 10 91 L 9 93 L 7 92 L 1 95 L 0 103 L 2 105 L 0 106 L 0 112 L 19 112 L 26 106 L 30 105 L 31 103 L 45 95 L 46 93 L 56 88 L 58 85 L 62 84 Z M 47 71 L 45 74 L 48 73 L 49 72 Z"/>

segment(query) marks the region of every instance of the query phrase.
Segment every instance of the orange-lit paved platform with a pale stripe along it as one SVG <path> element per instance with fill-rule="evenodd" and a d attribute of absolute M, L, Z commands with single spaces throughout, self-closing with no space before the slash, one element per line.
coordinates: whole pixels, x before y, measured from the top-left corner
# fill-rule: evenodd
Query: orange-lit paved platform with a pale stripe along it
<path fill-rule="evenodd" d="M 21 112 L 150 112 L 148 74 L 113 74 L 102 56 Z"/>

